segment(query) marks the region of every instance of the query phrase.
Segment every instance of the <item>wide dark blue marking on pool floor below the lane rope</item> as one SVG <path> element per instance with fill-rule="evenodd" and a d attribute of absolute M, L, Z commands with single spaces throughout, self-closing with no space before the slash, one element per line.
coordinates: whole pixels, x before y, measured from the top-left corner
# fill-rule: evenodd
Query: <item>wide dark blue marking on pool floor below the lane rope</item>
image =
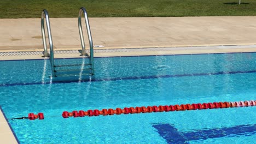
<path fill-rule="evenodd" d="M 172 124 L 154 124 L 153 128 L 167 143 L 189 143 L 195 140 L 207 140 L 219 137 L 233 137 L 237 135 L 250 135 L 256 130 L 256 124 L 235 125 L 228 128 L 214 128 L 191 131 L 179 131 Z"/>

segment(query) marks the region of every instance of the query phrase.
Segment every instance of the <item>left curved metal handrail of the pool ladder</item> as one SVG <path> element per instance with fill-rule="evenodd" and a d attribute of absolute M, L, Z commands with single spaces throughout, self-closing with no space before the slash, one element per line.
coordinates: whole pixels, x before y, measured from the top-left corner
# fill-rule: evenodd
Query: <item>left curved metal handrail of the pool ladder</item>
<path fill-rule="evenodd" d="M 50 20 L 49 20 L 49 14 L 46 9 L 42 11 L 41 16 L 41 31 L 42 31 L 42 39 L 43 39 L 43 45 L 44 45 L 44 57 L 49 57 L 48 51 L 47 51 L 47 45 L 46 45 L 46 38 L 45 38 L 45 31 L 44 31 L 44 18 L 46 21 L 46 27 L 47 27 L 47 33 L 48 33 L 48 39 L 49 39 L 49 45 L 50 45 L 50 62 L 51 62 L 51 72 L 52 75 L 55 76 L 54 73 L 54 49 L 53 49 L 53 39 L 51 38 L 51 27 L 50 27 Z"/>

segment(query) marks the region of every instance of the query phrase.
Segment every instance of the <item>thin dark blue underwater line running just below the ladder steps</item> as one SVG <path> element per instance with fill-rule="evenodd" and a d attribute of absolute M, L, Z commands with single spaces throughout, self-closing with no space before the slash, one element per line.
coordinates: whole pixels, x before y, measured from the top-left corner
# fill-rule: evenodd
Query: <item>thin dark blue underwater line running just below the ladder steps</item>
<path fill-rule="evenodd" d="M 210 75 L 223 75 L 223 74 L 245 74 L 245 73 L 256 73 L 256 70 L 248 71 L 220 71 L 218 73 L 197 73 L 197 74 L 177 74 L 177 75 L 153 75 L 153 76 L 133 76 L 133 77 L 115 77 L 110 79 L 91 79 L 91 80 L 71 80 L 71 81 L 53 81 L 53 82 L 31 82 L 31 83 L 6 83 L 0 84 L 0 87 L 10 86 L 26 86 L 26 85 L 46 85 L 46 84 L 57 84 L 57 83 L 73 83 L 73 82 L 98 82 L 98 81 L 118 81 L 118 80 L 139 80 L 139 79 L 159 79 L 159 78 L 170 78 L 170 77 L 185 77 L 185 76 L 210 76 Z"/>

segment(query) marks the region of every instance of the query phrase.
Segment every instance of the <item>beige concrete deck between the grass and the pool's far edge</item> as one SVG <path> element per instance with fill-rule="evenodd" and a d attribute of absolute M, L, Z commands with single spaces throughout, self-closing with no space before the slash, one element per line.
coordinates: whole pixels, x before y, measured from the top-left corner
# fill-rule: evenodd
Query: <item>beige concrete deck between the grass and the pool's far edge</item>
<path fill-rule="evenodd" d="M 77 21 L 77 18 L 50 18 L 54 50 L 81 49 Z M 95 56 L 256 51 L 256 16 L 108 17 L 89 21 L 94 45 L 104 46 L 95 50 L 170 47 L 170 51 L 114 55 L 103 52 Z M 85 30 L 84 20 L 82 24 Z M 0 31 L 0 52 L 43 51 L 40 19 L 0 19 Z M 86 32 L 84 35 L 88 46 Z M 226 45 L 238 47 L 218 47 Z M 0 59 L 6 58 L 0 56 Z"/>

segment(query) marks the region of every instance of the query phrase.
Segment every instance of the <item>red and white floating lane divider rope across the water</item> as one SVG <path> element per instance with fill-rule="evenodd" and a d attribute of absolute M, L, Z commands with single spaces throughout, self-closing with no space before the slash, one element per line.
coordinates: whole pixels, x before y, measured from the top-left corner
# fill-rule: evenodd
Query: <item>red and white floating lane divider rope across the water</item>
<path fill-rule="evenodd" d="M 181 104 L 181 105 L 159 105 L 159 106 L 141 106 L 141 107 L 124 107 L 124 109 L 102 109 L 102 110 L 88 110 L 88 111 L 63 111 L 62 117 L 84 117 L 84 116 L 111 116 L 111 115 L 121 115 L 123 114 L 133 114 L 133 113 L 149 113 L 149 112 L 169 112 L 169 111 L 185 111 L 185 110 L 206 110 L 206 109 L 223 109 L 229 107 L 247 107 L 256 106 L 256 100 L 246 100 L 246 101 L 234 101 L 234 102 L 214 102 L 214 103 L 198 103 L 198 104 Z M 57 117 L 57 116 L 48 116 Z M 28 117 L 11 118 L 14 119 L 44 119 L 44 114 L 42 112 L 38 114 L 28 113 Z"/>

